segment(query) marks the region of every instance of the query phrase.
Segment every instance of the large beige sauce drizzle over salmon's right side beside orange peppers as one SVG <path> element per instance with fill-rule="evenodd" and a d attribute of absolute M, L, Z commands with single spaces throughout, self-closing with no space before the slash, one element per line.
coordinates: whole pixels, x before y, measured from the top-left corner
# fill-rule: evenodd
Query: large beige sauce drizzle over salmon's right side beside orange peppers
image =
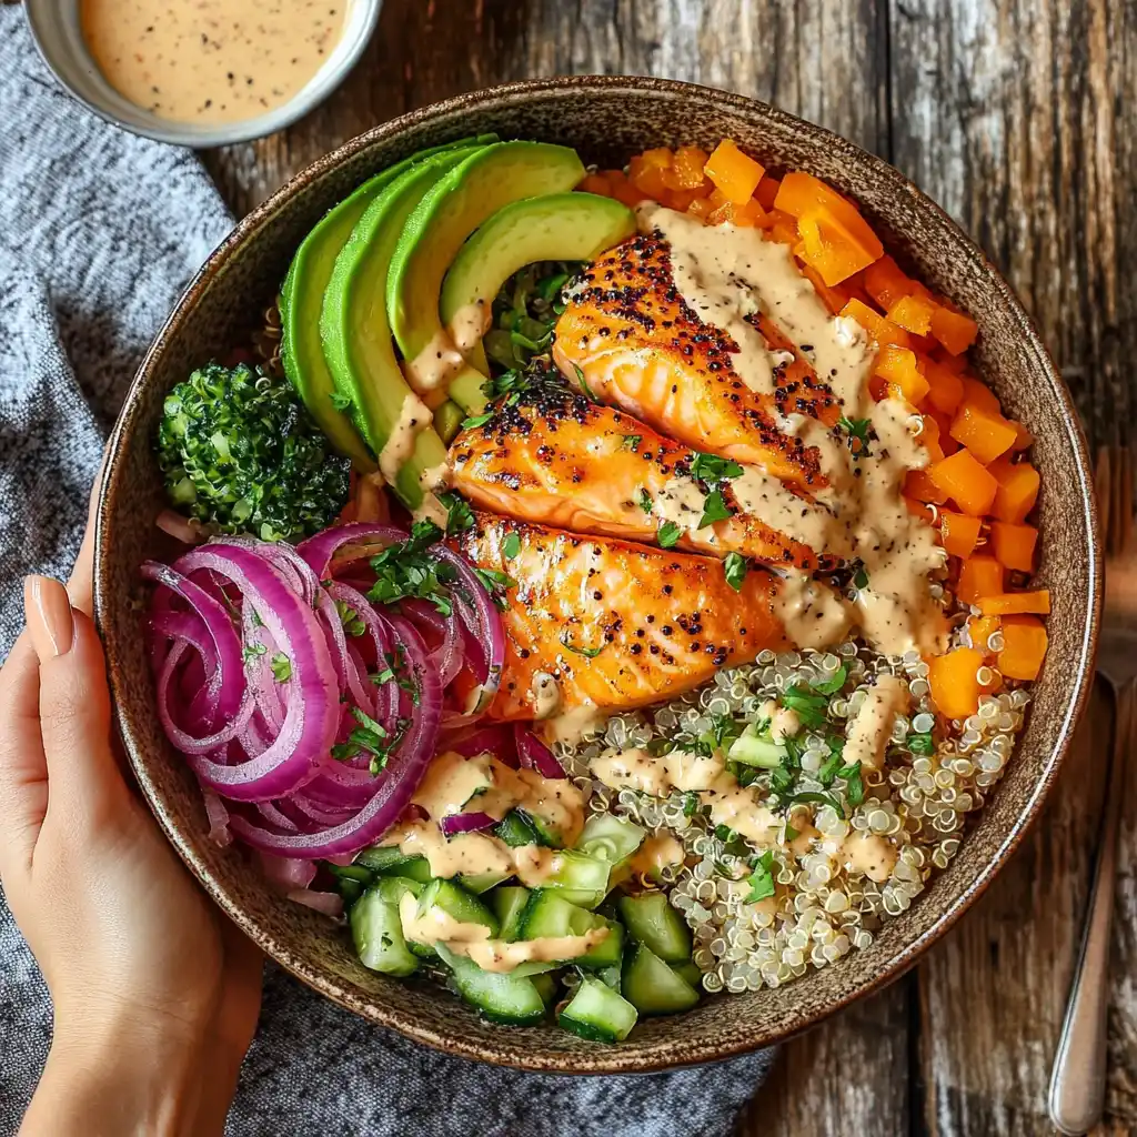
<path fill-rule="evenodd" d="M 655 204 L 640 205 L 638 214 L 641 232 L 658 230 L 670 244 L 675 287 L 688 306 L 738 345 L 732 367 L 747 387 L 772 395 L 774 368 L 783 358 L 746 318 L 762 310 L 798 345 L 845 417 L 868 418 L 877 434 L 870 455 L 854 462 L 840 432 L 803 415 L 788 416 L 782 429 L 818 450 L 830 485 L 810 505 L 767 472 L 750 470 L 732 480 L 739 507 L 819 551 L 864 563 L 869 583 L 858 592 L 854 615 L 874 647 L 890 654 L 941 650 L 946 628 L 928 573 L 943 566 L 944 553 L 935 531 L 908 513 L 902 496 L 905 475 L 927 464 L 928 451 L 908 429 L 913 412 L 906 402 L 872 398 L 875 349 L 868 334 L 855 321 L 832 316 L 790 250 L 761 230 L 704 225 Z M 840 603 L 824 599 L 824 591 L 800 574 L 789 575 L 779 615 L 797 646 L 823 647 L 846 634 Z"/>

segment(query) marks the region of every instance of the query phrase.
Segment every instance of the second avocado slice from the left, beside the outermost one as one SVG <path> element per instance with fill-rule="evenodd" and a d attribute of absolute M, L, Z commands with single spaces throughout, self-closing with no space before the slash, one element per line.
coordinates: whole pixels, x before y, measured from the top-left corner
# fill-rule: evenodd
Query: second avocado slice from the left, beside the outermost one
<path fill-rule="evenodd" d="M 399 168 L 351 230 L 324 290 L 319 332 L 327 371 L 337 391 L 350 400 L 354 421 L 376 455 L 413 393 L 399 370 L 383 302 L 391 254 L 423 194 L 481 149 L 478 143 L 447 149 Z M 423 471 L 445 460 L 446 447 L 433 429 L 421 431 L 393 484 L 410 509 L 422 505 Z"/>

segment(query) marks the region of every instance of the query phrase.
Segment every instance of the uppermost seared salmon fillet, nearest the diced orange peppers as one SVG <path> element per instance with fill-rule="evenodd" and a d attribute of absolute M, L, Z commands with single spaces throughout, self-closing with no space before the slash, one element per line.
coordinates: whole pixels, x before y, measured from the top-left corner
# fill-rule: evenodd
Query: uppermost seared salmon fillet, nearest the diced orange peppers
<path fill-rule="evenodd" d="M 803 489 L 825 484 L 815 449 L 779 430 L 800 413 L 833 425 L 840 408 L 794 345 L 766 316 L 750 322 L 772 350 L 791 349 L 774 370 L 774 392 L 736 374 L 738 345 L 703 323 L 675 289 L 667 243 L 641 234 L 584 269 L 556 325 L 553 357 L 564 375 L 604 402 L 677 441 L 712 450 Z"/>

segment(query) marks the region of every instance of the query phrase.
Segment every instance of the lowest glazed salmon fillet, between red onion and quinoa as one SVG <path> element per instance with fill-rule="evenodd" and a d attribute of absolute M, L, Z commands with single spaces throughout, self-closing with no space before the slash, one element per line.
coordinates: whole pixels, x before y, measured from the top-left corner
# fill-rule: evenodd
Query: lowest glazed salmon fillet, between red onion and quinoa
<path fill-rule="evenodd" d="M 517 549 L 507 556 L 512 534 Z M 786 646 L 771 573 L 748 573 L 736 592 L 708 557 L 480 512 L 453 542 L 474 565 L 515 581 L 505 592 L 505 673 L 492 719 L 537 717 L 549 680 L 564 709 L 647 706 Z"/>

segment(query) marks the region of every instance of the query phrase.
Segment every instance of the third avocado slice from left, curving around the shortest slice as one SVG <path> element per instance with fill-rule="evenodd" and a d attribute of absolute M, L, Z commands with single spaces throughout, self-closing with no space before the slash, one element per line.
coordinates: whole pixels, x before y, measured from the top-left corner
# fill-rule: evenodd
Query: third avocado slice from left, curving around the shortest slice
<path fill-rule="evenodd" d="M 405 368 L 425 362 L 435 348 L 455 349 L 439 302 L 443 277 L 466 239 L 504 206 L 571 190 L 583 176 L 584 166 L 568 147 L 499 142 L 466 158 L 434 185 L 402 229 L 387 283 L 388 318 Z M 465 371 L 460 384 L 449 383 L 450 393 L 467 410 L 481 409 L 482 376 L 474 368 Z M 413 385 L 429 387 L 430 379 Z"/>

